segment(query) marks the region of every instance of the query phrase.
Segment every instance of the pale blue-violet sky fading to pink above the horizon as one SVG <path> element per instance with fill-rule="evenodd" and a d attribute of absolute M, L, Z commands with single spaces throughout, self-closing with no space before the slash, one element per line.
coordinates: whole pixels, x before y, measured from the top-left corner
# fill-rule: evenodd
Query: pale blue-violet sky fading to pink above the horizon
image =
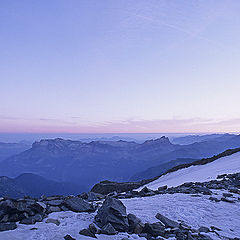
<path fill-rule="evenodd" d="M 0 132 L 240 132 L 240 1 L 0 1 Z"/>

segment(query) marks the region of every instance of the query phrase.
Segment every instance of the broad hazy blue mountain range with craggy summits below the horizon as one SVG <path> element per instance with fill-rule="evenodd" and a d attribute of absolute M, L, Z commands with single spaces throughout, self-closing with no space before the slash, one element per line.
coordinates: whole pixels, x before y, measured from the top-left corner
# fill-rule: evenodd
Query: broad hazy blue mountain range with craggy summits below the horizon
<path fill-rule="evenodd" d="M 240 136 L 190 145 L 172 144 L 168 138 L 142 144 L 126 141 L 83 143 L 63 139 L 41 140 L 32 148 L 1 164 L 0 175 L 16 177 L 25 172 L 48 179 L 91 187 L 101 180 L 128 181 L 137 172 L 177 158 L 211 157 L 240 146 Z M 159 175 L 159 174 L 157 174 Z"/>

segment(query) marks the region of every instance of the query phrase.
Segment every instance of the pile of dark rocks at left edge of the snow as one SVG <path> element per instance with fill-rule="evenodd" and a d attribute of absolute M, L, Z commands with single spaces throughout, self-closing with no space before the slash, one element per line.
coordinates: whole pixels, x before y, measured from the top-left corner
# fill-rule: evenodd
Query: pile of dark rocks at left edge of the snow
<path fill-rule="evenodd" d="M 16 228 L 16 222 L 20 224 L 35 224 L 43 221 L 49 213 L 59 211 L 93 212 L 95 207 L 81 197 L 52 196 L 34 199 L 30 197 L 22 199 L 0 199 L 0 231 Z M 57 219 L 48 219 L 46 223 L 59 225 Z"/>

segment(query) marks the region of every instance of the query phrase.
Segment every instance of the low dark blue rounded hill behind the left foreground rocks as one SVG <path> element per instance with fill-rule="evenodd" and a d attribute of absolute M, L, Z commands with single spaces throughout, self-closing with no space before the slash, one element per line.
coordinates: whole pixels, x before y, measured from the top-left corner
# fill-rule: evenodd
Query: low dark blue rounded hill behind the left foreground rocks
<path fill-rule="evenodd" d="M 86 188 L 77 184 L 56 182 L 32 173 L 24 173 L 16 178 L 0 177 L 0 197 L 77 195 L 86 190 Z"/>

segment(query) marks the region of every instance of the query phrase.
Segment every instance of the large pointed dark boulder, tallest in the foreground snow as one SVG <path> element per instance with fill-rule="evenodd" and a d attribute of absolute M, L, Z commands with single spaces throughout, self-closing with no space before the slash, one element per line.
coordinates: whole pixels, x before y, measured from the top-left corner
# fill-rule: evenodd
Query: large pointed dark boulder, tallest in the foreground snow
<path fill-rule="evenodd" d="M 110 223 L 115 230 L 126 232 L 129 229 L 126 207 L 116 198 L 107 197 L 95 216 L 95 222 L 103 228 Z"/>

